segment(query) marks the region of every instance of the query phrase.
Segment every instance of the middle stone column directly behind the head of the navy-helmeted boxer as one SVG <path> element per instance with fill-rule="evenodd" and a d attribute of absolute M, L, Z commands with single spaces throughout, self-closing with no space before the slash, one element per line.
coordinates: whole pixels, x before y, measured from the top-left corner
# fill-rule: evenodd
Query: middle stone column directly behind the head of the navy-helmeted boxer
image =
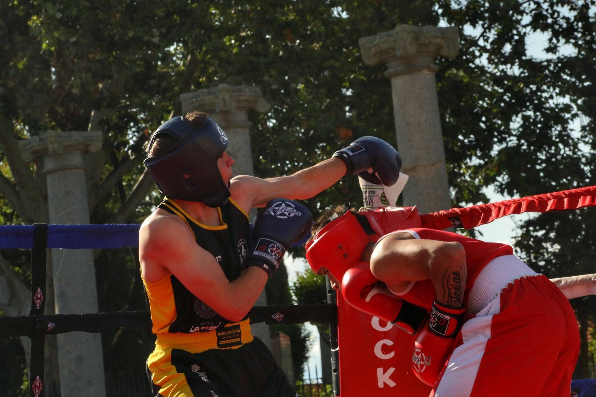
<path fill-rule="evenodd" d="M 253 157 L 250 150 L 250 132 L 252 123 L 249 111 L 266 112 L 271 108 L 260 93 L 259 87 L 231 86 L 221 84 L 214 88 L 202 89 L 180 95 L 182 114 L 193 110 L 204 111 L 226 133 L 229 138 L 227 152 L 234 158 L 234 175 L 254 175 Z M 250 219 L 255 210 L 250 211 Z M 257 299 L 257 306 L 266 306 L 265 290 Z M 253 335 L 259 337 L 271 348 L 269 326 L 265 323 L 252 325 Z"/>

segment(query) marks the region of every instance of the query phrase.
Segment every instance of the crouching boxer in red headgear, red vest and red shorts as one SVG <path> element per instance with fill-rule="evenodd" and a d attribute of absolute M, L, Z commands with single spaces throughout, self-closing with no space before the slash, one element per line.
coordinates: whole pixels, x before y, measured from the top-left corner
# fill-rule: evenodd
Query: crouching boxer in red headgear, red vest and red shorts
<path fill-rule="evenodd" d="M 337 217 L 337 212 L 346 211 L 328 212 L 315 224 L 313 235 L 320 232 L 307 246 L 311 267 L 328 274 L 350 304 L 393 323 L 401 324 L 401 306 L 388 304 L 393 310 L 388 312 L 372 305 L 375 294 L 387 299 L 387 289 L 430 312 L 414 346 L 412 369 L 433 386 L 431 396 L 570 395 L 579 354 L 575 314 L 557 286 L 515 257 L 511 246 L 418 227 L 379 236 L 362 213 Z M 347 222 L 350 216 L 358 222 Z M 333 232 L 333 223 L 350 224 L 351 233 Z M 360 260 L 370 261 L 370 268 L 354 262 L 339 270 L 331 257 L 327 267 L 316 260 L 316 252 L 309 252 L 313 242 L 320 247 L 333 235 L 364 239 L 333 240 L 328 250 L 333 256 L 337 246 L 358 246 Z"/>

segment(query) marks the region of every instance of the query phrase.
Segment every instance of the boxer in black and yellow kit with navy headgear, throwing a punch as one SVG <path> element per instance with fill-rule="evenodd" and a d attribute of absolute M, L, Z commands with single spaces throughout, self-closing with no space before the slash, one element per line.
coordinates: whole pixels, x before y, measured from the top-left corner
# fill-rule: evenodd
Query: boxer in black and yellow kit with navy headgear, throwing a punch
<path fill-rule="evenodd" d="M 224 113 L 218 117 L 229 121 Z M 154 397 L 295 397 L 246 318 L 284 252 L 310 228 L 312 214 L 292 200 L 312 198 L 369 168 L 372 178 L 390 186 L 401 167 L 389 143 L 369 136 L 292 175 L 232 178 L 227 149 L 224 130 L 200 111 L 170 118 L 145 146 L 147 172 L 169 198 L 139 229 L 139 262 L 157 335 L 147 360 Z M 265 210 L 249 244 L 246 212 L 254 207 Z"/>

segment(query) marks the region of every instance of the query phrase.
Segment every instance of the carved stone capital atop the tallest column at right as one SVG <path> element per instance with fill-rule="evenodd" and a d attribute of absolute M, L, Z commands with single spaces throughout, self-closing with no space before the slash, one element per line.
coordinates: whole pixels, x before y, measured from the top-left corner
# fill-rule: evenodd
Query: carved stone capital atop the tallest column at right
<path fill-rule="evenodd" d="M 365 64 L 387 64 L 387 77 L 423 70 L 436 73 L 439 68 L 434 58 L 454 58 L 460 50 L 457 27 L 399 25 L 389 32 L 362 37 L 358 44 Z"/>

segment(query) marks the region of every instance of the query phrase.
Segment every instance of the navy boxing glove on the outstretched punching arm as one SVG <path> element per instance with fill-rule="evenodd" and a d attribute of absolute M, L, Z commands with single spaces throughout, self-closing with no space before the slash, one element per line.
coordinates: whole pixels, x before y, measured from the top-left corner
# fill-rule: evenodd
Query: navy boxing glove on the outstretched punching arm
<path fill-rule="evenodd" d="M 346 163 L 346 174 L 358 174 L 362 179 L 375 185 L 392 186 L 398 182 L 402 158 L 398 151 L 383 139 L 374 136 L 362 136 L 350 146 L 333 154 Z M 373 168 L 373 173 L 367 170 Z"/>

